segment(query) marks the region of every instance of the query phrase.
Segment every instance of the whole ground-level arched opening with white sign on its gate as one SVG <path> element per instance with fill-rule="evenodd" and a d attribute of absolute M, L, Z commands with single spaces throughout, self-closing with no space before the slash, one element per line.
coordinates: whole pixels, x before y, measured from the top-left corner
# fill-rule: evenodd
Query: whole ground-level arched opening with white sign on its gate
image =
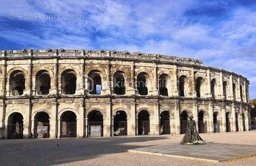
<path fill-rule="evenodd" d="M 37 112 L 34 119 L 34 137 L 49 138 L 50 136 L 50 117 L 48 113 L 41 111 Z"/>

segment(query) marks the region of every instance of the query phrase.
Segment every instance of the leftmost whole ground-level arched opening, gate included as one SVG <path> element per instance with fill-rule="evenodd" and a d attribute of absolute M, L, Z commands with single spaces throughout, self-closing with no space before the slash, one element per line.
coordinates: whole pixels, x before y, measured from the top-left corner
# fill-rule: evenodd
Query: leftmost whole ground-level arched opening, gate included
<path fill-rule="evenodd" d="M 8 139 L 23 138 L 23 116 L 21 113 L 13 112 L 8 117 L 7 137 Z"/>

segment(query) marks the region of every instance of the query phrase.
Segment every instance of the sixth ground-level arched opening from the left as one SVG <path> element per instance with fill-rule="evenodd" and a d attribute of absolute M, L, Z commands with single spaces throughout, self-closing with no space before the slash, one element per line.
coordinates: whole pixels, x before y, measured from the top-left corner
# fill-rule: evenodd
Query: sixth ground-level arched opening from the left
<path fill-rule="evenodd" d="M 138 114 L 138 135 L 150 134 L 149 113 L 142 110 Z"/>

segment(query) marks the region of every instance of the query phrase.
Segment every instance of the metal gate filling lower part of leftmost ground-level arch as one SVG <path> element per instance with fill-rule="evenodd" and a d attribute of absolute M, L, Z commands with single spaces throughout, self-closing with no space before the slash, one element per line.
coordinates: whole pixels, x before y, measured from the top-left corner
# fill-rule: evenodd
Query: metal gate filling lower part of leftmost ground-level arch
<path fill-rule="evenodd" d="M 23 124 L 8 124 L 7 125 L 8 139 L 22 139 L 23 138 Z"/>

